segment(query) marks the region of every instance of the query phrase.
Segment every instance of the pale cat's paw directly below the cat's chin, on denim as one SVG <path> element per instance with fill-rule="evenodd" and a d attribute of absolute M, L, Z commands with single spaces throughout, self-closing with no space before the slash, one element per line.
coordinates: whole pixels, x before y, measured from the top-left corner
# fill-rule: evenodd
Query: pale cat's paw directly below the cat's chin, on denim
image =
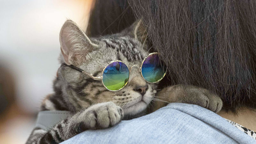
<path fill-rule="evenodd" d="M 124 111 L 113 102 L 104 102 L 92 105 L 79 117 L 83 118 L 80 123 L 82 129 L 104 129 L 119 123 L 124 117 Z"/>

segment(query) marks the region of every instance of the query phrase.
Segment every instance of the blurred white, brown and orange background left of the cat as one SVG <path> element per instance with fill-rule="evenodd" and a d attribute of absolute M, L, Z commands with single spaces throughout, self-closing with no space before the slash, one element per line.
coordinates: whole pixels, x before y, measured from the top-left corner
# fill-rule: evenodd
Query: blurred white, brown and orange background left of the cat
<path fill-rule="evenodd" d="M 0 143 L 25 143 L 60 64 L 59 32 L 86 29 L 92 0 L 0 0 Z"/>

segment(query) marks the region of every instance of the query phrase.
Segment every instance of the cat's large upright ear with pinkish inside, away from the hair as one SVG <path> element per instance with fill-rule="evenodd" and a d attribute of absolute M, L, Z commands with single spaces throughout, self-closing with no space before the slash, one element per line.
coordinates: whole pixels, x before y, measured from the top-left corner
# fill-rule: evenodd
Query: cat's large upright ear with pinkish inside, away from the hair
<path fill-rule="evenodd" d="M 60 49 L 67 65 L 80 65 L 87 53 L 92 52 L 93 44 L 84 31 L 72 20 L 67 20 L 60 30 Z"/>

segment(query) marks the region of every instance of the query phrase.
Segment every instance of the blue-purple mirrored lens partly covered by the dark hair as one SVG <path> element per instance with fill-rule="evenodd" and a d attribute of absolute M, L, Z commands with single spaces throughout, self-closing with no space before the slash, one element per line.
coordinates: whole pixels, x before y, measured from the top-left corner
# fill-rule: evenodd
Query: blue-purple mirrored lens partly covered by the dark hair
<path fill-rule="evenodd" d="M 142 76 L 150 83 L 160 81 L 165 76 L 165 72 L 166 66 L 159 61 L 157 53 L 149 55 L 142 64 Z"/>

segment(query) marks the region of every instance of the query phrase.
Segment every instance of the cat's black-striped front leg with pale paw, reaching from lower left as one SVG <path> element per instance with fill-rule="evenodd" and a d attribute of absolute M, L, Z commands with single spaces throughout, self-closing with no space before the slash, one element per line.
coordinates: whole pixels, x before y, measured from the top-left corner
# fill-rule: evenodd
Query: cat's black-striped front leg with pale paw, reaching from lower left
<path fill-rule="evenodd" d="M 34 129 L 27 143 L 60 143 L 89 129 L 105 129 L 121 121 L 123 109 L 113 102 L 105 102 L 62 120 L 48 132 Z"/>

